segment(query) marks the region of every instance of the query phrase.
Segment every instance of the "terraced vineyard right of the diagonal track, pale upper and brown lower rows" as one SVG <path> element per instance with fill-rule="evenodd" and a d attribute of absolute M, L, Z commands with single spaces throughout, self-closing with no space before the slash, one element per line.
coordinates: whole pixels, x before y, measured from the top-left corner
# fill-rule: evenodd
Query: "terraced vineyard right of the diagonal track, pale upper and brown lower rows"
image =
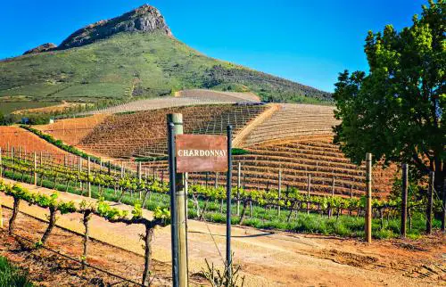
<path fill-rule="evenodd" d="M 333 143 L 332 127 L 337 123 L 333 107 L 306 104 L 281 104 L 269 119 L 254 127 L 243 147 L 249 154 L 235 156 L 236 168 L 242 166 L 242 185 L 246 188 L 277 188 L 282 170 L 283 188 L 297 187 L 310 193 L 360 196 L 365 191 L 365 168 L 352 164 L 339 146 Z M 165 143 L 164 143 L 165 146 Z M 145 163 L 158 175 L 167 175 L 167 162 Z M 392 189 L 396 167 L 374 169 L 373 186 L 376 196 L 385 197 Z M 213 174 L 189 174 L 194 182 L 215 184 Z M 226 177 L 218 176 L 217 184 Z"/>

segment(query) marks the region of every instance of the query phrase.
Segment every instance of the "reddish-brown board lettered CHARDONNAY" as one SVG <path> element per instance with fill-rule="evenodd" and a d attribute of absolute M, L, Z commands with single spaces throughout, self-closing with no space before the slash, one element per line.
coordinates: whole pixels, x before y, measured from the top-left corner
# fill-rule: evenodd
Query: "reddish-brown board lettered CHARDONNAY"
<path fill-rule="evenodd" d="M 177 172 L 227 171 L 227 136 L 176 135 Z"/>

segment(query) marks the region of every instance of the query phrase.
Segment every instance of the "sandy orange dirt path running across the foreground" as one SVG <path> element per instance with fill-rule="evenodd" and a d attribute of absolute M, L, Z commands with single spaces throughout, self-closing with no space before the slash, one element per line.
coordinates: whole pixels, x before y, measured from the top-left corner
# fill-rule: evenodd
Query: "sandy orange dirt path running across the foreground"
<path fill-rule="evenodd" d="M 12 182 L 5 180 L 6 182 Z M 29 189 L 50 193 L 45 188 L 23 184 Z M 66 200 L 83 198 L 60 193 Z M 1 197 L 4 205 L 12 200 Z M 118 205 L 118 204 L 115 204 Z M 120 205 L 122 209 L 131 209 Z M 21 210 L 45 218 L 43 209 L 21 204 Z M 147 211 L 146 216 L 151 212 Z M 60 217 L 58 224 L 82 232 L 79 215 Z M 188 221 L 189 270 L 199 272 L 208 258 L 221 266 L 225 254 L 225 226 Z M 97 240 L 143 254 L 139 234 L 142 226 L 110 224 L 92 218 L 91 236 Z M 211 235 L 212 234 L 212 235 Z M 380 241 L 367 245 L 352 239 L 331 236 L 270 233 L 251 227 L 232 229 L 235 264 L 242 266 L 248 286 L 446 286 L 446 246 L 444 234 L 413 241 Z M 170 228 L 155 231 L 153 258 L 170 261 Z"/>

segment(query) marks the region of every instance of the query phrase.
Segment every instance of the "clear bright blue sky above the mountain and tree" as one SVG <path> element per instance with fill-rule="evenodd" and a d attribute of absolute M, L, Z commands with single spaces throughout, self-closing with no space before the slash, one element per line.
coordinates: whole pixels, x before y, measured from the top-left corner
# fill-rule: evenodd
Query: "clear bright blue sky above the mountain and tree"
<path fill-rule="evenodd" d="M 409 26 L 426 0 L 22 1 L 0 4 L 0 59 L 142 4 L 161 10 L 175 37 L 211 57 L 326 91 L 337 73 L 368 70 L 369 29 Z"/>

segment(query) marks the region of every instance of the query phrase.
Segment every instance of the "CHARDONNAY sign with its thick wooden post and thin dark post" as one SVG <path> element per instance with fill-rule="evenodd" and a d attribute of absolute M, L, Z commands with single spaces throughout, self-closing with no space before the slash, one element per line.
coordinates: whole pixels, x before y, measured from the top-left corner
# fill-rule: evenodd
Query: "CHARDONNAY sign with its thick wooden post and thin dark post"
<path fill-rule="evenodd" d="M 232 127 L 224 135 L 183 135 L 183 115 L 168 115 L 173 286 L 187 286 L 186 173 L 227 172 L 227 278 L 231 259 Z"/>

